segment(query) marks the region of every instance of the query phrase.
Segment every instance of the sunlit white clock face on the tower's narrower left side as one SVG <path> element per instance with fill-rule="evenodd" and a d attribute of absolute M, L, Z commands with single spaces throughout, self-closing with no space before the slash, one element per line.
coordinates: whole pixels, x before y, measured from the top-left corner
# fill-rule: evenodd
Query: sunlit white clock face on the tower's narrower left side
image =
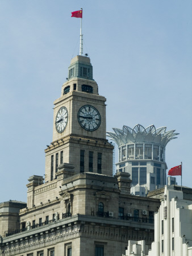
<path fill-rule="evenodd" d="M 68 110 L 65 107 L 60 108 L 55 119 L 55 127 L 58 133 L 62 133 L 68 124 Z"/>

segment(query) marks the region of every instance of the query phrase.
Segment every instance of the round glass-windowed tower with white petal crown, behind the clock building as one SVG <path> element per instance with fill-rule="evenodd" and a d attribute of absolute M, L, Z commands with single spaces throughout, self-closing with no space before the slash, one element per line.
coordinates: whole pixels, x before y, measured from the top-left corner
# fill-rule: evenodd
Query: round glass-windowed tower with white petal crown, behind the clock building
<path fill-rule="evenodd" d="M 154 125 L 144 128 L 136 125 L 131 129 L 113 129 L 107 132 L 119 148 L 119 160 L 116 172 L 131 174 L 133 195 L 145 196 L 148 191 L 164 187 L 166 184 L 165 146 L 177 138 L 175 130 L 166 131 L 166 127 L 156 129 Z"/>

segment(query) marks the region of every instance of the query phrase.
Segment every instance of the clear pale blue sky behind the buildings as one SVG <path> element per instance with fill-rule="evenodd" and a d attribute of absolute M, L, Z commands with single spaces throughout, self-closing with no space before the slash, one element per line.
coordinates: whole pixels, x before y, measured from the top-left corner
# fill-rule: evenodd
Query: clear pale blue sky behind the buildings
<path fill-rule="evenodd" d="M 166 163 L 182 162 L 182 185 L 191 187 L 191 0 L 0 0 L 0 202 L 27 201 L 28 177 L 44 175 L 53 101 L 79 51 L 80 19 L 70 16 L 81 8 L 107 131 L 176 130 Z"/>

